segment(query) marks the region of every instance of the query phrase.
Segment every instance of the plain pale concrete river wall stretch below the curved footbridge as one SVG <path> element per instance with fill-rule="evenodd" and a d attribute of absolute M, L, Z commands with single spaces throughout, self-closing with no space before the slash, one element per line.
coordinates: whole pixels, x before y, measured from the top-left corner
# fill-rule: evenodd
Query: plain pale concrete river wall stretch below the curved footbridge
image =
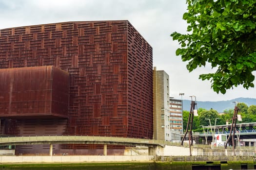
<path fill-rule="evenodd" d="M 147 162 L 154 156 L 0 156 L 1 164 L 14 163 L 86 163 L 86 162 Z"/>

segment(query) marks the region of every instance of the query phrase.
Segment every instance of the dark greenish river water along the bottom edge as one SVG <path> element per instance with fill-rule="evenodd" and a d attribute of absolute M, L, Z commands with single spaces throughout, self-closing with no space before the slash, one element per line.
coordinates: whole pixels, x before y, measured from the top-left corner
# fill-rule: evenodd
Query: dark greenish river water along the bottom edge
<path fill-rule="evenodd" d="M 88 163 L 88 164 L 9 164 L 0 165 L 0 170 L 247 170 L 253 169 L 245 164 L 191 164 L 189 162 L 173 163 Z M 247 164 L 246 164 L 247 166 Z"/>

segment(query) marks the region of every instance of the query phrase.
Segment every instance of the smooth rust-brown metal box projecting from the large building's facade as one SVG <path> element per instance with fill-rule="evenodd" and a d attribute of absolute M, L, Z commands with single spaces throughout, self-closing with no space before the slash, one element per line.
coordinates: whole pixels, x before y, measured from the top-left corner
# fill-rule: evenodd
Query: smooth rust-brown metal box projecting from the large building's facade
<path fill-rule="evenodd" d="M 3 80 L 0 81 L 1 118 L 67 117 L 67 72 L 52 66 L 8 68 L 0 69 L 0 79 Z M 65 85 L 58 89 L 58 82 L 65 82 Z"/>

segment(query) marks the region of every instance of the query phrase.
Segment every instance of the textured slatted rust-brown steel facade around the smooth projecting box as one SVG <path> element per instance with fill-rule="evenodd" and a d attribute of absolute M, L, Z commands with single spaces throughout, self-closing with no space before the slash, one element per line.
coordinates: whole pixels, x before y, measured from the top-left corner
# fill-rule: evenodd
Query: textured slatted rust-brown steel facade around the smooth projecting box
<path fill-rule="evenodd" d="M 69 73 L 63 135 L 152 138 L 152 47 L 129 21 L 0 30 L 1 69 L 40 66 Z"/>

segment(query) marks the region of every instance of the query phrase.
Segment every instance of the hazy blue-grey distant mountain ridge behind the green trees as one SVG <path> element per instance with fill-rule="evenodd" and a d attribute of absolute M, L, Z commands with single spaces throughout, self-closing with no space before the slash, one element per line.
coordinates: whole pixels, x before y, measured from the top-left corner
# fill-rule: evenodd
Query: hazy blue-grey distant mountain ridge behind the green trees
<path fill-rule="evenodd" d="M 222 113 L 225 109 L 234 109 L 235 103 L 234 102 L 244 102 L 248 105 L 256 105 L 256 99 L 254 98 L 236 98 L 229 101 L 218 101 L 218 102 L 202 102 L 197 101 L 197 108 L 203 108 L 210 110 L 215 109 L 219 113 Z M 191 101 L 183 100 L 183 110 L 190 111 Z"/>

